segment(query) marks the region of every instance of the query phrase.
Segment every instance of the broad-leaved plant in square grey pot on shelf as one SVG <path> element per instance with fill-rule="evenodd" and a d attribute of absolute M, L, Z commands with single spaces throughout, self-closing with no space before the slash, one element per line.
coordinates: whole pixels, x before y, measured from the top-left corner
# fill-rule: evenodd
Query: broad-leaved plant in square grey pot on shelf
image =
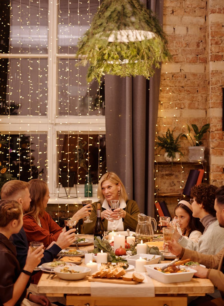
<path fill-rule="evenodd" d="M 192 124 L 191 126 L 195 133 L 194 139 L 191 136 L 191 129 L 188 124 L 187 124 L 188 134 L 182 135 L 188 140 L 190 144 L 190 146 L 188 147 L 189 148 L 189 161 L 190 162 L 201 161 L 201 160 L 204 160 L 204 150 L 205 150 L 205 147 L 202 146 L 203 143 L 201 140 L 206 132 L 210 133 L 210 131 L 208 130 L 210 128 L 210 124 L 207 123 L 203 125 L 200 131 L 196 124 Z"/>

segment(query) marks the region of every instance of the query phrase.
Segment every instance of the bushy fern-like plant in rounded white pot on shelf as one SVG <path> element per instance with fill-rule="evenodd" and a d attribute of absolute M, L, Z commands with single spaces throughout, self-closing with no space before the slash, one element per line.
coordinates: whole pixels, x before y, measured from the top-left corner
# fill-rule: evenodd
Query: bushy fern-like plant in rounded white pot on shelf
<path fill-rule="evenodd" d="M 180 155 L 183 156 L 182 152 L 180 151 L 181 136 L 182 133 L 180 133 L 177 137 L 174 137 L 174 129 L 172 131 L 167 129 L 165 136 L 162 135 L 157 137 L 157 146 L 165 150 L 164 157 L 167 162 L 178 161 L 180 159 Z"/>

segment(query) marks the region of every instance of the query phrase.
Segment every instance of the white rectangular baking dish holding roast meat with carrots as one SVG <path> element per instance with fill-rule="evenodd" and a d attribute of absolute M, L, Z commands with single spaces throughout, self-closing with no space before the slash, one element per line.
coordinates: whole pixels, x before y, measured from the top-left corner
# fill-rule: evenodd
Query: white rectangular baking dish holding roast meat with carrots
<path fill-rule="evenodd" d="M 178 273 L 163 273 L 158 270 L 155 270 L 154 267 L 163 267 L 164 263 L 157 263 L 154 265 L 145 265 L 146 272 L 152 278 L 155 278 L 157 281 L 162 283 L 179 283 L 179 282 L 189 282 L 196 270 L 193 270 L 189 267 L 180 266 L 186 268 L 187 272 L 178 272 Z"/>

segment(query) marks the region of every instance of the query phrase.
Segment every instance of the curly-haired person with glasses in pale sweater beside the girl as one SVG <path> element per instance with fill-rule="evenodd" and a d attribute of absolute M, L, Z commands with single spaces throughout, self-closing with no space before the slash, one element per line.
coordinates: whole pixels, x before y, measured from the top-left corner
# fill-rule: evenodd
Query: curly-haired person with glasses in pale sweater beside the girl
<path fill-rule="evenodd" d="M 178 243 L 182 247 L 204 254 L 216 254 L 224 248 L 224 228 L 219 226 L 214 209 L 216 189 L 205 183 L 191 188 L 193 217 L 200 218 L 204 232 L 198 242 L 180 237 Z"/>

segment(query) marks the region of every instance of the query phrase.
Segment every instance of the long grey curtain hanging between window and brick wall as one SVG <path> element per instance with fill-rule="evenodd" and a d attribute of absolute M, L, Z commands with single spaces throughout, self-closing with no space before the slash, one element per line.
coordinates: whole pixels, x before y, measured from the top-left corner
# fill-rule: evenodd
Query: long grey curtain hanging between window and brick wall
<path fill-rule="evenodd" d="M 163 0 L 147 2 L 162 24 Z M 142 76 L 105 76 L 107 170 L 115 172 L 140 212 L 154 217 L 154 146 L 160 69 Z"/>

